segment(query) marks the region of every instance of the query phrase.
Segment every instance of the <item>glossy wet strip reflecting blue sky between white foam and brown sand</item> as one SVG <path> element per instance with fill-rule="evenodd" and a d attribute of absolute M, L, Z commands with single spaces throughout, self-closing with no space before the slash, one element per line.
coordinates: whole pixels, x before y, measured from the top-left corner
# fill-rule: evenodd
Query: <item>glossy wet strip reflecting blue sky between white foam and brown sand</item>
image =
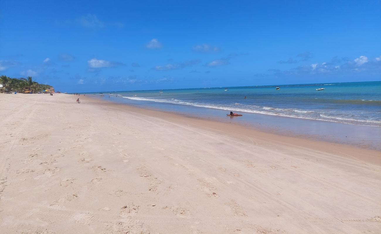
<path fill-rule="evenodd" d="M 96 98 L 95 95 L 89 97 Z M 102 100 L 109 100 L 100 97 Z M 125 103 L 139 108 L 148 108 L 158 111 L 176 112 L 180 115 L 198 118 L 197 114 L 204 119 L 215 119 L 215 121 L 227 121 L 224 116 L 226 110 L 195 107 L 175 103 L 150 102 L 142 100 L 130 100 L 129 98 L 112 98 L 114 103 Z M 243 112 L 242 112 L 243 113 Z M 381 151 L 381 128 L 376 126 L 365 126 L 359 124 L 338 123 L 309 118 L 296 118 L 279 115 L 267 115 L 260 113 L 245 113 L 234 122 L 243 126 L 259 129 L 263 132 L 272 132 L 278 135 L 298 136 L 311 138 L 325 142 L 336 142 L 345 145 L 353 145 L 361 148 Z"/>

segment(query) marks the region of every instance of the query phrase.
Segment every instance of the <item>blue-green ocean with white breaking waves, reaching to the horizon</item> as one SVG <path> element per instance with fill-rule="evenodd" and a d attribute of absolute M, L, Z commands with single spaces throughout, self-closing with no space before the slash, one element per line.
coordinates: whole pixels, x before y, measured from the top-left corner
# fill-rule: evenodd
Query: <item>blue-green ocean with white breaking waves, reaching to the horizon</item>
<path fill-rule="evenodd" d="M 275 87 L 279 87 L 276 90 Z M 225 88 L 228 91 L 225 91 Z M 316 91 L 324 88 L 322 91 Z M 108 97 L 105 93 L 105 97 Z M 314 119 L 364 126 L 381 126 L 381 81 L 279 86 L 108 92 L 109 99 L 132 100 L 135 105 L 171 103 L 226 110 Z M 118 95 L 118 96 L 116 96 Z M 246 99 L 245 99 L 246 96 Z M 129 101 L 128 103 L 131 103 Z M 158 105 L 155 105 L 158 107 Z M 168 105 L 165 106 L 168 108 Z M 160 108 L 160 106 L 159 106 Z"/>

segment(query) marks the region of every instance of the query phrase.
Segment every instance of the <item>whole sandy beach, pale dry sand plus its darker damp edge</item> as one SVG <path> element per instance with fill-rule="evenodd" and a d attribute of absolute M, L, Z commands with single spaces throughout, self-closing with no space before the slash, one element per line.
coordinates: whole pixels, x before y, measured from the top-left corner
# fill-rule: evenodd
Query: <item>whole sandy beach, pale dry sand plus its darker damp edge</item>
<path fill-rule="evenodd" d="M 381 232 L 381 153 L 81 96 L 0 94 L 1 233 Z"/>

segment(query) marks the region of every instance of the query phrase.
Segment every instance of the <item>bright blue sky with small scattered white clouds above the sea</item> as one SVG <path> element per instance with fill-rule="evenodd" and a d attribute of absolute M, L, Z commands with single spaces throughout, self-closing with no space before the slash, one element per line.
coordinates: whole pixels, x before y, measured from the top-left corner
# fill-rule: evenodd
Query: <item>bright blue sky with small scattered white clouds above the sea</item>
<path fill-rule="evenodd" d="M 0 75 L 61 92 L 381 80 L 378 0 L 0 0 L 0 33 Z"/>

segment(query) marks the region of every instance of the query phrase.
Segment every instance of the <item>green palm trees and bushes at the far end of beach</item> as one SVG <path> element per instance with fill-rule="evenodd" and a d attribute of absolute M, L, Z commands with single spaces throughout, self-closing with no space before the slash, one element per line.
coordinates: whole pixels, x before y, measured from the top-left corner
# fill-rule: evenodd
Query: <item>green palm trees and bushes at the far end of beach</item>
<path fill-rule="evenodd" d="M 50 89 L 52 86 L 47 84 L 38 84 L 36 81 L 32 80 L 32 77 L 27 78 L 10 78 L 8 76 L 0 76 L 0 83 L 3 85 L 0 88 L 1 92 L 21 92 L 30 91 L 33 93 L 43 92 L 45 89 Z"/>

